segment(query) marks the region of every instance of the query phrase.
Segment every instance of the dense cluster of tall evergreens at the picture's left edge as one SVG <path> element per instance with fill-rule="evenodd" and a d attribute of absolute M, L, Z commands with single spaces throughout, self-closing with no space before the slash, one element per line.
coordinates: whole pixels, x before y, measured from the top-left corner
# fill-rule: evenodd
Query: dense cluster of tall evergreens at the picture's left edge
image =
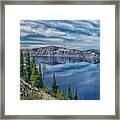
<path fill-rule="evenodd" d="M 31 84 L 32 87 L 44 88 L 41 65 L 39 65 L 38 68 L 36 67 L 34 56 L 30 60 L 29 50 L 27 50 L 25 60 L 22 50 L 20 51 L 20 77 Z"/>

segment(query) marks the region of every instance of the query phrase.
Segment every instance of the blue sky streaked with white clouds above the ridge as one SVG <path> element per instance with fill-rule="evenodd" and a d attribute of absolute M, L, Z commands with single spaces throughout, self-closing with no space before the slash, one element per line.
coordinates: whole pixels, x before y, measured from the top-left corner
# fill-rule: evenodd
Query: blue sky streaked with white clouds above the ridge
<path fill-rule="evenodd" d="M 99 20 L 21 20 L 21 46 L 100 49 Z"/>

